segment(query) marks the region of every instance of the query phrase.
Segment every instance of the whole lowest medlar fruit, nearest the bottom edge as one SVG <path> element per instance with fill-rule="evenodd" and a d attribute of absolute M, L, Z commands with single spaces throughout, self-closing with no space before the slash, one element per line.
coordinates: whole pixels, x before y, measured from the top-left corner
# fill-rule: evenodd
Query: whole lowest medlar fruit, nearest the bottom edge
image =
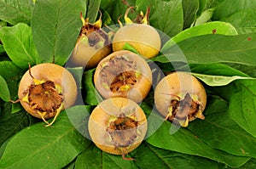
<path fill-rule="evenodd" d="M 125 98 L 102 101 L 90 114 L 88 130 L 90 138 L 99 149 L 125 155 L 136 149 L 146 135 L 147 118 L 141 107 Z"/>

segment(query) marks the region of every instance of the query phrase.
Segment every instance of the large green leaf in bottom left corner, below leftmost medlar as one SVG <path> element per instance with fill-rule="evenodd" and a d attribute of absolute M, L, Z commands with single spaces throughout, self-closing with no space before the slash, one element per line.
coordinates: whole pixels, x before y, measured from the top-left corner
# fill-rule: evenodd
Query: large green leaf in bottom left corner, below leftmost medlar
<path fill-rule="evenodd" d="M 40 122 L 15 134 L 3 153 L 0 167 L 61 168 L 89 144 L 62 111 L 51 127 Z"/>

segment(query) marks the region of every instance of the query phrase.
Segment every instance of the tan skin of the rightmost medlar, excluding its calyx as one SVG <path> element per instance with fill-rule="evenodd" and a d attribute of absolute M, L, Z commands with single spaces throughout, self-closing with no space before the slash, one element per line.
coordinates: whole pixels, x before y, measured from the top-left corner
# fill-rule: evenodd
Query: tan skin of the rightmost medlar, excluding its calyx
<path fill-rule="evenodd" d="M 206 108 L 207 93 L 201 82 L 195 76 L 189 73 L 177 71 L 165 76 L 155 87 L 154 104 L 161 115 L 165 116 L 172 99 L 176 96 L 183 99 L 184 95 L 189 93 L 190 96 L 197 96 L 197 100 L 201 104 L 201 112 Z M 193 121 L 195 118 L 189 119 Z"/>

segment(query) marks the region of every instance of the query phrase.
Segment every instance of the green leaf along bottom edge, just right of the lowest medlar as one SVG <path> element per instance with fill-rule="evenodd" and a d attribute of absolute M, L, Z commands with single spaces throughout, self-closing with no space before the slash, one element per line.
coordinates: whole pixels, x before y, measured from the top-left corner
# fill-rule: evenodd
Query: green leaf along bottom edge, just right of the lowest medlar
<path fill-rule="evenodd" d="M 185 155 L 174 151 L 159 149 L 143 143 L 131 155 L 140 168 L 218 168 L 217 161 L 211 161 L 195 155 Z"/>

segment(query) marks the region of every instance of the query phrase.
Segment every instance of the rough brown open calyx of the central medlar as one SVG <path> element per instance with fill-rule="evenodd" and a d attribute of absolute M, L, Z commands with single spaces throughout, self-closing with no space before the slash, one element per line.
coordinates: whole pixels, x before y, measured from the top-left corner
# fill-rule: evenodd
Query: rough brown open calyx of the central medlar
<path fill-rule="evenodd" d="M 137 62 L 123 55 L 115 56 L 108 60 L 108 63 L 102 65 L 102 82 L 111 92 L 127 92 L 133 87 L 139 77 L 140 72 Z"/>

